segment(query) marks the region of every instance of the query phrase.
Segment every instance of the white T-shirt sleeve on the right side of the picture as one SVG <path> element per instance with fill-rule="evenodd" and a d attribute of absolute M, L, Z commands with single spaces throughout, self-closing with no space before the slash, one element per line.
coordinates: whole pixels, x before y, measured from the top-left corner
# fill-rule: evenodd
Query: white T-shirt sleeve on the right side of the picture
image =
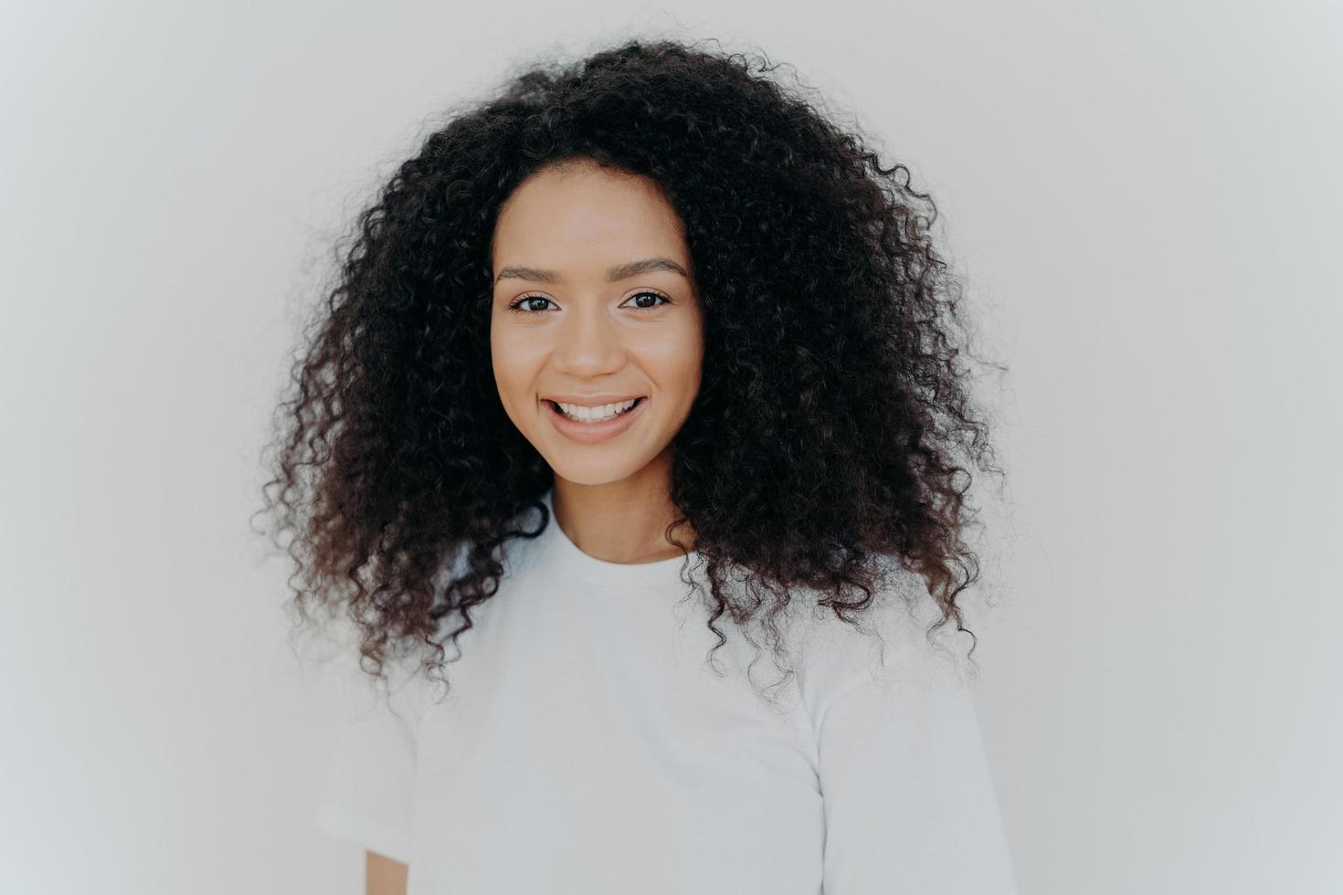
<path fill-rule="evenodd" d="M 826 895 L 1015 895 L 979 721 L 955 657 L 908 641 L 818 721 Z"/>

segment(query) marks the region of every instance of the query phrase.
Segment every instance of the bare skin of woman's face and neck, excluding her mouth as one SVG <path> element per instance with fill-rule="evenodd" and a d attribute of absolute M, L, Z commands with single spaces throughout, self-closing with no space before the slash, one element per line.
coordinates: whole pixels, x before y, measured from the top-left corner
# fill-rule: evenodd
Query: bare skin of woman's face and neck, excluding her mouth
<path fill-rule="evenodd" d="M 649 259 L 661 260 L 638 264 Z M 680 216 L 654 181 L 569 161 L 504 203 L 492 268 L 494 381 L 555 471 L 560 529 L 607 562 L 681 556 L 665 535 L 676 518 L 669 445 L 700 390 L 704 315 Z M 584 444 L 543 401 L 595 393 L 647 396 L 646 407 L 623 432 Z M 688 526 L 676 535 L 693 549 Z"/>

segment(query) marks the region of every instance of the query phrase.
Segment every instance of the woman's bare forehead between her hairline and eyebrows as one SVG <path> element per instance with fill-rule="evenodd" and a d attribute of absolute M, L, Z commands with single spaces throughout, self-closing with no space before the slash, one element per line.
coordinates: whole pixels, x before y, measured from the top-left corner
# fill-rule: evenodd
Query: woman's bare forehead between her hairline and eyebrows
<path fill-rule="evenodd" d="M 689 262 L 681 219 L 657 184 L 591 162 L 548 168 L 522 181 L 500 209 L 496 267 L 586 267 L 665 255 Z"/>

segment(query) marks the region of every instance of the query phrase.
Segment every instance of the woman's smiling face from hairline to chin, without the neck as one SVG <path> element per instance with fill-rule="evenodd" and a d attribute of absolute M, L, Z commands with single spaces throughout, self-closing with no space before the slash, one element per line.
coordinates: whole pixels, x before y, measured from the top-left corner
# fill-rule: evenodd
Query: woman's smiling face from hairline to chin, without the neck
<path fill-rule="evenodd" d="M 556 476 L 665 468 L 704 339 L 681 220 L 651 181 L 591 162 L 537 172 L 504 203 L 490 260 L 494 382 Z"/>

